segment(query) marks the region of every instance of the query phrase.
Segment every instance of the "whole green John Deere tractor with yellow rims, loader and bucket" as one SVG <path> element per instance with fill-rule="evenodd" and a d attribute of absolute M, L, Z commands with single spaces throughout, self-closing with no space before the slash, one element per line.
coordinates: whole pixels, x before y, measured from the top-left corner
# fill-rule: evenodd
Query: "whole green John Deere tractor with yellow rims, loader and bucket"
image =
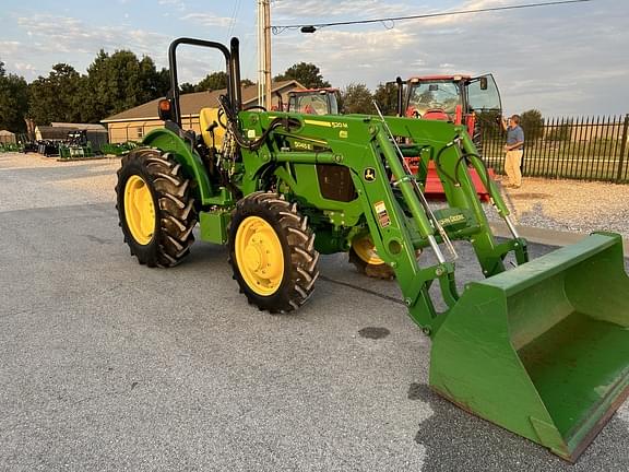
<path fill-rule="evenodd" d="M 181 128 L 180 45 L 225 59 L 227 93 L 221 113 L 201 113 L 201 135 Z M 227 246 L 249 303 L 293 312 L 311 298 L 320 253 L 368 238 L 432 340 L 430 386 L 575 460 L 629 393 L 629 278 L 619 235 L 593 234 L 529 261 L 464 126 L 242 109 L 236 38 L 229 48 L 176 39 L 169 62 L 171 92 L 159 103 L 165 128 L 146 134 L 118 172 L 120 225 L 140 263 L 179 263 L 199 225 L 202 240 Z M 438 164 L 448 208 L 430 209 L 404 155 Z M 491 234 L 468 165 L 484 176 L 511 238 Z M 472 245 L 486 278 L 461 293 L 454 239 Z M 436 262 L 420 264 L 418 249 Z M 518 267 L 506 271 L 510 253 Z M 431 299 L 434 284 L 442 309 Z"/>

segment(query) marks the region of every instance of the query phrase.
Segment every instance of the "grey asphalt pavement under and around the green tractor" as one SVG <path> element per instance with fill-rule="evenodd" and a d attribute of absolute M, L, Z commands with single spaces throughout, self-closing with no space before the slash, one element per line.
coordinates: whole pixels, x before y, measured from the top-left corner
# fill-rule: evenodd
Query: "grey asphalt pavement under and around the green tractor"
<path fill-rule="evenodd" d="M 434 394 L 396 284 L 345 255 L 272 316 L 223 247 L 138 264 L 116 161 L 34 160 L 0 155 L 1 471 L 629 470 L 627 403 L 569 465 Z M 459 248 L 461 283 L 479 279 Z"/>

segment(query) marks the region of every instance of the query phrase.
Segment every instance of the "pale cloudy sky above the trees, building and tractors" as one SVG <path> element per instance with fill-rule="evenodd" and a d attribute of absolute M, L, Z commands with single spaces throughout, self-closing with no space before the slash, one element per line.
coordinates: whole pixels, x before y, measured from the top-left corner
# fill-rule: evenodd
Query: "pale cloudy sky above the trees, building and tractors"
<path fill-rule="evenodd" d="M 404 16 L 541 0 L 272 0 L 273 25 Z M 130 49 L 167 66 L 168 44 L 198 37 L 241 44 L 242 78 L 257 78 L 257 0 L 0 0 L 0 60 L 32 81 L 66 62 L 84 73 L 100 49 Z M 272 71 L 313 62 L 333 86 L 371 90 L 397 75 L 490 72 L 506 114 L 629 113 L 629 1 L 337 26 L 272 35 Z M 223 70 L 217 51 L 188 47 L 181 82 Z"/>

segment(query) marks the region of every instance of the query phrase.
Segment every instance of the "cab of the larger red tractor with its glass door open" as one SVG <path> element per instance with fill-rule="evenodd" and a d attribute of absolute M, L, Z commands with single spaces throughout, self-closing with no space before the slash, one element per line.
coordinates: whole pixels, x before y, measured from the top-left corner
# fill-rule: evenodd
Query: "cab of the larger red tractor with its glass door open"
<path fill-rule="evenodd" d="M 397 79 L 400 116 L 464 125 L 475 134 L 479 114 L 500 115 L 500 93 L 491 74 L 415 76 Z M 404 91 L 405 88 L 405 91 Z"/>

